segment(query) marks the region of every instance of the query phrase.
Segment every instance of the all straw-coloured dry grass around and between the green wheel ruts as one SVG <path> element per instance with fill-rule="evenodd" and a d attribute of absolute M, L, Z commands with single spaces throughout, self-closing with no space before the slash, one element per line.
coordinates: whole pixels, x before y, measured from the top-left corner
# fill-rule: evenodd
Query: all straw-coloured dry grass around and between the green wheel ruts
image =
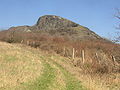
<path fill-rule="evenodd" d="M 36 54 L 33 54 L 36 53 Z M 47 62 L 56 69 L 56 82 L 53 83 L 54 90 L 59 90 L 61 85 L 64 87 L 64 76 L 60 69 L 52 62 L 61 65 L 69 71 L 82 85 L 90 90 L 119 90 L 119 73 L 83 73 L 82 68 L 74 67 L 72 59 L 61 57 L 60 55 L 45 54 L 45 51 L 39 51 L 25 45 L 8 44 L 0 42 L 0 87 L 12 88 L 21 83 L 36 79 L 42 70 L 41 60 L 38 55 L 43 56 Z M 89 54 L 88 54 L 89 55 Z M 88 59 L 88 57 L 87 57 Z M 76 58 L 77 60 L 77 58 Z M 78 60 L 81 60 L 80 57 Z M 87 60 L 88 62 L 89 60 Z M 90 62 L 89 62 L 90 63 Z M 85 68 L 84 68 L 85 69 Z M 89 69 L 88 69 L 89 70 Z M 93 69 L 92 69 L 93 70 Z M 59 80 L 59 81 L 58 81 Z M 59 88 L 58 88 L 59 86 Z M 8 89 L 9 90 L 9 89 Z"/>

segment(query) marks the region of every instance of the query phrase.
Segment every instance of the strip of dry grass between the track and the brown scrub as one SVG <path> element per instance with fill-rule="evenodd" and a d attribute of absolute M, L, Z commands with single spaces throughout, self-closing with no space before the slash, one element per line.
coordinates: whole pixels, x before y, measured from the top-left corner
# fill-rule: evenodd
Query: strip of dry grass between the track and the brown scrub
<path fill-rule="evenodd" d="M 71 59 L 61 57 L 59 55 L 49 55 L 51 59 L 64 67 L 73 76 L 82 82 L 88 90 L 119 90 L 120 89 L 120 74 L 84 74 L 79 67 L 74 67 Z"/>

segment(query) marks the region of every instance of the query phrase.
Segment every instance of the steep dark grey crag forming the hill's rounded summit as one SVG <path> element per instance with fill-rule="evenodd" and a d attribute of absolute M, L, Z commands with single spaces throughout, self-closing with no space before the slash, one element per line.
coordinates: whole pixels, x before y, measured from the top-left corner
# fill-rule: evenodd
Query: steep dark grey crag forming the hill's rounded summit
<path fill-rule="evenodd" d="M 45 15 L 38 19 L 36 26 L 39 29 L 59 29 L 68 27 L 77 27 L 78 24 L 59 16 Z"/>

